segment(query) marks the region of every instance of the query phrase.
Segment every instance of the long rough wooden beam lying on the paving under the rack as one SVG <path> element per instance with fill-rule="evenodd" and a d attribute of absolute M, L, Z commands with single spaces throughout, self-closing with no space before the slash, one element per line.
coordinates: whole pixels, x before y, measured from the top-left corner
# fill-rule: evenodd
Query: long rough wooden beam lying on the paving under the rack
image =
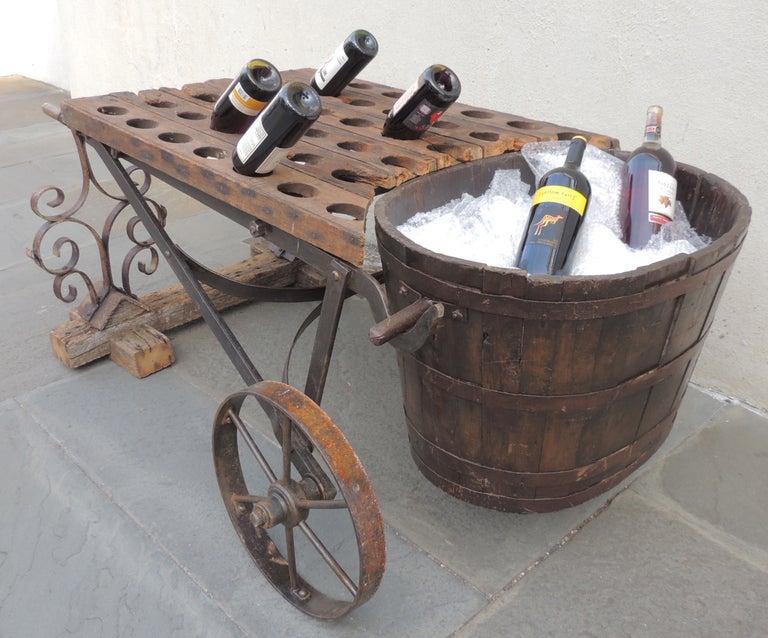
<path fill-rule="evenodd" d="M 270 253 L 260 253 L 219 272 L 238 281 L 273 287 L 290 286 L 296 281 L 298 260 L 289 262 Z M 239 297 L 225 295 L 204 286 L 214 306 L 223 310 L 242 303 Z M 140 298 L 149 311 L 131 303 L 118 306 L 103 330 L 82 319 L 74 319 L 51 331 L 51 345 L 56 356 L 70 368 L 79 368 L 110 354 L 110 339 L 131 328 L 152 326 L 166 332 L 200 318 L 197 306 L 181 284 L 175 284 Z"/>

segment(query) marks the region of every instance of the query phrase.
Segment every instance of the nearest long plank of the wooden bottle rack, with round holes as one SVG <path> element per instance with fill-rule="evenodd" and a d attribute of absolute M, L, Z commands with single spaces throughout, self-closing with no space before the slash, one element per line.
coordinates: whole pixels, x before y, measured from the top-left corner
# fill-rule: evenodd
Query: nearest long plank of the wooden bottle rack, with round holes
<path fill-rule="evenodd" d="M 167 120 L 113 95 L 66 100 L 61 121 L 180 182 L 354 264 L 364 258 L 365 212 L 371 199 L 310 180 L 280 164 L 270 175 L 239 175 L 232 144 Z M 344 216 L 334 212 L 343 210 Z"/>

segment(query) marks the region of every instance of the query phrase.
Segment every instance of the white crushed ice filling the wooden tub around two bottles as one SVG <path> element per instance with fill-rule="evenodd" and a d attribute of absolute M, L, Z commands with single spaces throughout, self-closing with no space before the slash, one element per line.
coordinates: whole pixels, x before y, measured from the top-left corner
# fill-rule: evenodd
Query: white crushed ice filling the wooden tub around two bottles
<path fill-rule="evenodd" d="M 569 141 L 536 142 L 523 147 L 522 155 L 536 183 L 548 170 L 563 165 L 569 145 Z M 645 248 L 627 246 L 621 240 L 619 223 L 623 166 L 622 160 L 587 145 L 581 168 L 590 181 L 592 197 L 565 264 L 566 274 L 626 272 L 709 243 L 691 227 L 677 202 L 674 221 Z M 514 268 L 531 206 L 529 190 L 519 170 L 499 170 L 481 195 L 464 194 L 433 210 L 418 212 L 398 230 L 437 253 Z"/>

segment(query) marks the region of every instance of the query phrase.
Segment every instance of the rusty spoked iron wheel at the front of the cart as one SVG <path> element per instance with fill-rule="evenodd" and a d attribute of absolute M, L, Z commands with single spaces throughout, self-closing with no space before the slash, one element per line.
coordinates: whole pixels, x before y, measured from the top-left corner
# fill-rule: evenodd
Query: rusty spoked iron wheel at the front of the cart
<path fill-rule="evenodd" d="M 280 419 L 283 432 L 280 469 L 271 468 L 241 418 L 244 402 L 255 399 L 267 413 Z M 285 424 L 288 427 L 285 427 Z M 337 494 L 324 489 L 311 475 L 292 478 L 291 456 L 295 435 L 305 435 L 313 455 L 319 455 L 332 474 Z M 286 434 L 287 433 L 287 434 Z M 248 491 L 241 465 L 239 442 L 245 444 L 269 483 L 265 494 Z M 263 445 L 262 445 L 263 447 Z M 245 448 L 243 451 L 245 452 Z M 213 459 L 224 505 L 251 558 L 267 580 L 292 605 L 317 618 L 339 618 L 371 598 L 384 575 L 384 524 L 370 480 L 347 439 L 328 415 L 309 397 L 278 381 L 262 381 L 226 398 L 213 426 Z M 341 510 L 354 528 L 358 573 L 346 573 L 315 534 L 308 520 L 313 510 Z M 344 512 L 343 510 L 347 510 Z M 285 556 L 269 529 L 284 528 Z M 303 532 L 310 546 L 330 568 L 349 599 L 328 595 L 299 573 L 294 530 Z"/>

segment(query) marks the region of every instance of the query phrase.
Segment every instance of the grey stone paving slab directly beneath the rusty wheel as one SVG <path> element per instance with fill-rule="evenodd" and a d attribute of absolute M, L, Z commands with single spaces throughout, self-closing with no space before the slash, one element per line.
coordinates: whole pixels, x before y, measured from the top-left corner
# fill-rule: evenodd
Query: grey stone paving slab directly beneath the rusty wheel
<path fill-rule="evenodd" d="M 145 542 L 175 563 L 178 573 L 161 571 L 154 586 L 173 588 L 179 579 L 191 580 L 244 635 L 262 635 L 265 624 L 280 627 L 272 635 L 324 635 L 326 629 L 334 636 L 423 636 L 431 631 L 447 635 L 486 602 L 480 592 L 390 529 L 388 573 L 375 605 L 366 605 L 332 626 L 293 610 L 254 568 L 221 503 L 210 450 L 216 404 L 170 370 L 139 380 L 105 361 L 22 395 L 17 402 L 23 408 L 19 418 L 30 428 L 43 430 L 66 452 L 73 465 L 70 471 L 84 474 L 133 521 L 137 529 L 130 533 L 145 535 Z M 25 473 L 20 475 L 26 483 Z M 16 481 L 6 476 L 3 482 Z M 68 489 L 61 498 L 72 498 Z M 13 500 L 9 508 L 24 510 L 26 502 Z M 79 515 L 87 517 L 92 505 L 85 503 L 82 509 Z M 36 520 L 28 530 L 33 536 L 42 533 L 40 528 L 52 516 L 25 515 Z M 119 544 L 118 538 L 103 539 L 95 531 L 89 538 L 95 546 Z M 64 551 L 55 538 L 46 543 L 50 551 Z M 151 556 L 146 552 L 137 556 L 141 566 L 135 569 L 151 571 Z M 8 578 L 15 580 L 20 567 L 7 568 Z M 118 572 L 121 567 L 114 569 Z M 130 579 L 131 574 L 128 569 L 120 577 Z M 197 604 L 194 596 L 180 595 Z M 79 602 L 66 604 L 72 617 L 87 614 Z M 425 616 L 425 609 L 441 612 L 438 617 Z M 172 611 L 182 610 L 179 605 Z M 193 630 L 188 635 L 198 635 L 194 626 Z"/>

